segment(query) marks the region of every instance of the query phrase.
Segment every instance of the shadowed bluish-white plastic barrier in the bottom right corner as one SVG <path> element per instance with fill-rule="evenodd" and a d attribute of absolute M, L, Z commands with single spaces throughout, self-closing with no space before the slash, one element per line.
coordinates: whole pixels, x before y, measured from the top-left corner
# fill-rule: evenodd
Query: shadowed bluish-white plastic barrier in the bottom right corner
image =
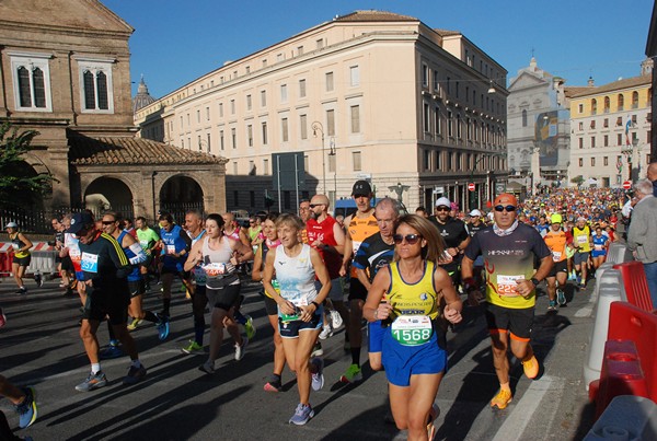
<path fill-rule="evenodd" d="M 616 396 L 584 438 L 596 440 L 657 440 L 657 404 L 642 396 Z"/>

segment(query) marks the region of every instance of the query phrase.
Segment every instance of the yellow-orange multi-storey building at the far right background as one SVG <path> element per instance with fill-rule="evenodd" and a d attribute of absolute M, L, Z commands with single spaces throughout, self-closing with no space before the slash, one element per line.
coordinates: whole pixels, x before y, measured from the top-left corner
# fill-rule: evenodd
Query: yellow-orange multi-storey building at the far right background
<path fill-rule="evenodd" d="M 645 177 L 650 156 L 652 62 L 642 76 L 601 86 L 580 88 L 570 96 L 569 183 L 620 187 Z"/>

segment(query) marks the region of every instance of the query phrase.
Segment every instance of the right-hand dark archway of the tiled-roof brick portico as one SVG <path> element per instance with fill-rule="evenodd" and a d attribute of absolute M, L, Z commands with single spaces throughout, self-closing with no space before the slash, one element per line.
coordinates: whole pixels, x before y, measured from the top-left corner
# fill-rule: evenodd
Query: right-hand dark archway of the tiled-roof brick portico
<path fill-rule="evenodd" d="M 160 211 L 173 216 L 177 223 L 183 223 L 185 213 L 189 210 L 204 212 L 203 188 L 188 176 L 172 176 L 160 189 Z"/>

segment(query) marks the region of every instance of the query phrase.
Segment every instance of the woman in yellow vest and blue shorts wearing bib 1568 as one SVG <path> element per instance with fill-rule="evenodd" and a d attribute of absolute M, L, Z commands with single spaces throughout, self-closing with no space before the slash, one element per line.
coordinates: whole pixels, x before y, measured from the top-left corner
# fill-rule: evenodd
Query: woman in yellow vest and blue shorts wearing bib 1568
<path fill-rule="evenodd" d="M 434 439 L 434 401 L 447 369 L 447 348 L 440 345 L 436 320 L 459 323 L 463 304 L 451 278 L 438 266 L 443 253 L 438 231 L 429 221 L 406 214 L 394 230 L 395 255 L 377 272 L 365 305 L 369 322 L 382 321 L 383 365 L 390 405 L 400 430 L 410 440 Z M 385 295 L 385 300 L 384 300 Z M 428 425 L 427 425 L 428 422 Z"/>

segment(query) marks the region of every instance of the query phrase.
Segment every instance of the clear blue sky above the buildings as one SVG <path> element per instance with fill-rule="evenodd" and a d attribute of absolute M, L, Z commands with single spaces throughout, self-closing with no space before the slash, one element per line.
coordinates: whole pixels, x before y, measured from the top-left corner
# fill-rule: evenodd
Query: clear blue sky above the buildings
<path fill-rule="evenodd" d="M 461 32 L 509 73 L 529 65 L 596 85 L 636 77 L 654 0 L 101 0 L 135 28 L 132 94 L 143 76 L 159 98 L 292 35 L 356 10 L 411 15 Z M 200 42 L 201 44 L 197 44 Z"/>

